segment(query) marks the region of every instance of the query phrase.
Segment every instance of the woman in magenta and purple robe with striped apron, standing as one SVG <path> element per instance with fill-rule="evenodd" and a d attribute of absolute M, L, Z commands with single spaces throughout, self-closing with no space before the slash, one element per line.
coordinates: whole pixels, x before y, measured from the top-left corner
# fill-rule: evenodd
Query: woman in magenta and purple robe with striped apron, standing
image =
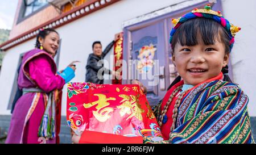
<path fill-rule="evenodd" d="M 56 143 L 60 128 L 59 91 L 75 77 L 76 69 L 74 61 L 63 72 L 57 72 L 53 57 L 59 40 L 55 30 L 41 30 L 35 49 L 24 54 L 18 76 L 23 94 L 15 104 L 6 143 Z"/>

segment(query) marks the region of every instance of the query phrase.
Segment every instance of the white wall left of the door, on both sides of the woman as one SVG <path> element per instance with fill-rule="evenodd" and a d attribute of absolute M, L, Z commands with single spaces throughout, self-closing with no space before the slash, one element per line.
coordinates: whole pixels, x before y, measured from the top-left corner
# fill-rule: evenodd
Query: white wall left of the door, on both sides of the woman
<path fill-rule="evenodd" d="M 126 20 L 183 1 L 123 0 L 57 28 L 56 30 L 60 33 L 62 39 L 59 69 L 64 69 L 73 60 L 81 61 L 80 64 L 77 64 L 76 77 L 71 82 L 84 82 L 86 60 L 88 55 L 92 53 L 93 41 L 100 40 L 105 48 L 114 39 L 115 33 L 122 32 L 122 23 Z M 0 75 L 0 115 L 10 114 L 10 111 L 6 109 L 19 55 L 32 49 L 34 42 L 35 39 L 32 39 L 7 51 Z M 113 51 L 110 51 L 110 53 L 113 53 Z M 110 62 L 110 54 L 105 59 Z M 106 66 L 106 68 L 112 69 L 112 66 Z M 67 85 L 63 88 L 62 115 L 66 113 L 66 98 Z"/>

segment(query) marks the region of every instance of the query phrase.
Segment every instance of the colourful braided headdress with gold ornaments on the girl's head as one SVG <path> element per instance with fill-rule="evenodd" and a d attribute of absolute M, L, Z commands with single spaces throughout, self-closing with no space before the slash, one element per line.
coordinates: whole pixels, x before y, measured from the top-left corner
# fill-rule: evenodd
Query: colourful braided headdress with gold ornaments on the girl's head
<path fill-rule="evenodd" d="M 188 14 L 181 16 L 178 19 L 172 19 L 172 23 L 174 24 L 174 27 L 172 28 L 170 33 L 170 43 L 172 41 L 172 37 L 174 36 L 174 33 L 176 32 L 177 28 L 179 28 L 180 25 L 186 22 L 187 20 L 194 19 L 194 18 L 208 18 L 221 24 L 221 26 L 223 26 L 225 30 L 228 31 L 229 33 L 229 40 L 230 40 L 229 46 L 231 51 L 234 45 L 234 36 L 236 36 L 236 33 L 239 32 L 241 28 L 229 23 L 229 21 L 226 20 L 224 16 L 222 16 L 220 11 L 213 11 L 210 5 L 205 6 L 204 9 L 196 8 L 191 12 L 189 12 Z"/>

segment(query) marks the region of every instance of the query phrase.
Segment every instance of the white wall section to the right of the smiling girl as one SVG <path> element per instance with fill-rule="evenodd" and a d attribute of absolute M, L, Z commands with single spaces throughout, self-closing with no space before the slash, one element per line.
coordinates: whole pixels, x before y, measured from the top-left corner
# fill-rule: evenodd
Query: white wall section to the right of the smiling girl
<path fill-rule="evenodd" d="M 249 96 L 249 114 L 256 116 L 256 1 L 222 0 L 224 16 L 241 31 L 230 55 L 234 83 Z"/>

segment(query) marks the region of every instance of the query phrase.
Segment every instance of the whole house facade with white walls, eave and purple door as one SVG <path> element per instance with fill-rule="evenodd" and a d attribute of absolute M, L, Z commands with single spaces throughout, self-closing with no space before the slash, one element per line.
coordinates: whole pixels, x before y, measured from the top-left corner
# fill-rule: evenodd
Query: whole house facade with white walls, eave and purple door
<path fill-rule="evenodd" d="M 253 131 L 256 126 L 256 62 L 254 40 L 256 40 L 256 2 L 249 0 L 87 0 L 87 1 L 23 1 L 19 0 L 14 25 L 9 41 L 0 45 L 5 52 L 0 73 L 0 127 L 7 131 L 10 108 L 16 90 L 16 72 L 24 52 L 34 48 L 35 36 L 40 28 L 52 27 L 60 34 L 61 43 L 56 56 L 57 68 L 64 69 L 71 61 L 78 60 L 76 76 L 71 82 L 85 82 L 85 65 L 92 53 L 93 41 L 100 40 L 103 48 L 123 32 L 122 83 L 142 78 L 143 70 L 135 73 L 129 60 L 138 60 L 143 47 L 151 48 L 155 66 L 151 77 L 142 79 L 148 88 L 147 98 L 154 105 L 166 93 L 168 86 L 177 76 L 171 62 L 168 37 L 172 28 L 171 19 L 177 18 L 195 7 L 210 3 L 220 10 L 225 18 L 242 28 L 230 55 L 230 77 L 249 96 L 249 114 Z M 245 18 L 246 17 L 246 18 Z M 113 69 L 114 52 L 105 57 L 106 68 Z M 156 83 L 154 83 L 156 81 Z M 105 76 L 105 83 L 112 83 Z M 151 84 L 150 84 L 151 83 Z M 153 84 L 152 84 L 153 83 Z M 70 143 L 70 129 L 65 122 L 67 85 L 63 88 L 61 143 Z M 255 125 L 254 125 L 255 124 Z M 256 129 L 256 128 L 255 128 Z M 1 134 L 1 133 L 0 133 Z"/>

